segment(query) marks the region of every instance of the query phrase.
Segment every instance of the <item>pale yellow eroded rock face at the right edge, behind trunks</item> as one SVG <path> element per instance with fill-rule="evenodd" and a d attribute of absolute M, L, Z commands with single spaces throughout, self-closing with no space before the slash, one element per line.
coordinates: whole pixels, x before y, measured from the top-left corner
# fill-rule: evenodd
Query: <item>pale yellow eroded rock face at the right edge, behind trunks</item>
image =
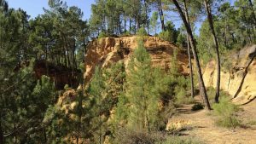
<path fill-rule="evenodd" d="M 235 103 L 246 104 L 256 97 L 256 45 L 241 49 L 230 59 L 232 68 L 221 72 L 220 88 L 236 97 Z M 215 70 L 215 62 L 210 61 L 203 75 L 207 87 L 216 88 Z"/>

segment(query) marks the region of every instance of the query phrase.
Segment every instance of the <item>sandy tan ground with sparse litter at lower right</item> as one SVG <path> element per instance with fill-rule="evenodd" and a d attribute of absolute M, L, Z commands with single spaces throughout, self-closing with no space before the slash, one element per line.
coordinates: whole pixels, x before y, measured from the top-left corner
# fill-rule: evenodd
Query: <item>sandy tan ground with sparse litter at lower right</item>
<path fill-rule="evenodd" d="M 198 99 L 198 97 L 197 97 Z M 199 101 L 199 100 L 197 100 Z M 241 106 L 239 118 L 244 126 L 227 129 L 217 126 L 216 116 L 207 110 L 191 111 L 191 105 L 183 105 L 177 109 L 177 116 L 173 119 L 188 120 L 191 126 L 183 130 L 180 135 L 191 137 L 206 144 L 256 144 L 256 100 Z M 253 124 L 248 124 L 248 123 Z"/>

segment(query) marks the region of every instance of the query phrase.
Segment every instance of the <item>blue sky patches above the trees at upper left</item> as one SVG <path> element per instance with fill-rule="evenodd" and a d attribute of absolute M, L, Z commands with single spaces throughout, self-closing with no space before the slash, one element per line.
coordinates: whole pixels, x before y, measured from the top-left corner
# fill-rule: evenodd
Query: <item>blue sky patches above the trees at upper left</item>
<path fill-rule="evenodd" d="M 48 7 L 48 0 L 7 0 L 10 8 L 24 9 L 26 14 L 36 17 L 38 14 L 44 14 L 43 8 Z M 84 20 L 90 18 L 90 5 L 95 0 L 66 0 L 67 6 L 77 6 L 84 12 Z"/>

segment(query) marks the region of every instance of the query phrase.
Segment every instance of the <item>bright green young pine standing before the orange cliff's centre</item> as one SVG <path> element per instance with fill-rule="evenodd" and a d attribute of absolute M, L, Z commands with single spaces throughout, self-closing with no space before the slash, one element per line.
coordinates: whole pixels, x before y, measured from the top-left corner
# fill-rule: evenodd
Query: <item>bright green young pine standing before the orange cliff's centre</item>
<path fill-rule="evenodd" d="M 130 103 L 128 125 L 131 129 L 154 129 L 160 95 L 154 91 L 151 61 L 143 42 L 138 42 L 128 66 L 125 95 Z"/>

